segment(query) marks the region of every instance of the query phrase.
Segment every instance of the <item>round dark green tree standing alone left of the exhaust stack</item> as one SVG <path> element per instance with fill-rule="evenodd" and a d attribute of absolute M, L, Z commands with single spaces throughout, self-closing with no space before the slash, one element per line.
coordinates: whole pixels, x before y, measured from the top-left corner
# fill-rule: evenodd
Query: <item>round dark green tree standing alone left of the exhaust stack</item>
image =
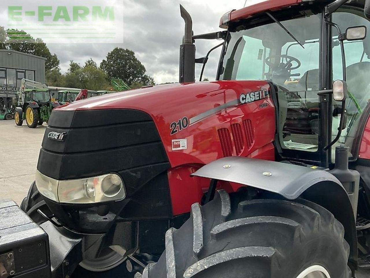
<path fill-rule="evenodd" d="M 119 78 L 129 86 L 134 83 L 154 85 L 154 79 L 145 74 L 144 65 L 135 57 L 135 52 L 116 47 L 100 64 L 110 79 Z"/>

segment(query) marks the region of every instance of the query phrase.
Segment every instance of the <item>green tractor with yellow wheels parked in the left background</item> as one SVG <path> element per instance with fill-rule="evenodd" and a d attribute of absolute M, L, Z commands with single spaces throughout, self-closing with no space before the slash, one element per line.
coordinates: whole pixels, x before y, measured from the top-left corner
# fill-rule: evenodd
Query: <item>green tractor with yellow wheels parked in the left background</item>
<path fill-rule="evenodd" d="M 37 125 L 48 122 L 51 110 L 58 106 L 58 102 L 51 101 L 46 84 L 22 79 L 14 120 L 17 126 L 21 126 L 23 120 L 26 120 L 29 128 L 36 128 Z"/>

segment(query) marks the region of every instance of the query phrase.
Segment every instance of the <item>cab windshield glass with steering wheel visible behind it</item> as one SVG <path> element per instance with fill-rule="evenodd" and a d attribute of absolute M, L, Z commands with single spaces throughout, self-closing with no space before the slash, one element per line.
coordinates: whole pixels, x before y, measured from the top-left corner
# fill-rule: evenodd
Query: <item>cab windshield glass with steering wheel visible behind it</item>
<path fill-rule="evenodd" d="M 230 32 L 221 80 L 266 80 L 277 90 L 284 149 L 316 152 L 321 14 Z"/>

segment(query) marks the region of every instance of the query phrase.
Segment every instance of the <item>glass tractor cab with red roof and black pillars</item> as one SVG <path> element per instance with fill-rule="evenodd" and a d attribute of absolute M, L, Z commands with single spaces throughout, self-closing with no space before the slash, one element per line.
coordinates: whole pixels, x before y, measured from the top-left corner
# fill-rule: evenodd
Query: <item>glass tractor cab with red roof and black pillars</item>
<path fill-rule="evenodd" d="M 227 31 L 192 40 L 187 39 L 191 29 L 182 10 L 186 32 L 181 55 L 193 55 L 195 40 L 224 39 L 216 46 L 223 48 L 216 80 L 269 83 L 277 105 L 277 150 L 283 158 L 328 167 L 335 147 L 344 144 L 356 159 L 357 127 L 370 99 L 370 22 L 364 1 L 262 2 L 223 15 L 220 27 Z M 195 63 L 203 63 L 204 69 L 208 55 Z M 184 60 L 180 81 L 193 80 L 193 70 Z M 320 94 L 336 80 L 346 83 L 344 100 L 336 101 L 332 92 Z"/>

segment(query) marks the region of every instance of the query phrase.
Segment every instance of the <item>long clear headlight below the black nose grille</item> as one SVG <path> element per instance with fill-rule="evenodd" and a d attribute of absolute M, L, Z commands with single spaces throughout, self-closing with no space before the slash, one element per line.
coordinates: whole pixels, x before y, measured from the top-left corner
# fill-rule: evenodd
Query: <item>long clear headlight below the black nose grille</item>
<path fill-rule="evenodd" d="M 60 203 L 99 203 L 126 197 L 124 182 L 117 174 L 58 181 L 36 172 L 38 191 Z"/>

